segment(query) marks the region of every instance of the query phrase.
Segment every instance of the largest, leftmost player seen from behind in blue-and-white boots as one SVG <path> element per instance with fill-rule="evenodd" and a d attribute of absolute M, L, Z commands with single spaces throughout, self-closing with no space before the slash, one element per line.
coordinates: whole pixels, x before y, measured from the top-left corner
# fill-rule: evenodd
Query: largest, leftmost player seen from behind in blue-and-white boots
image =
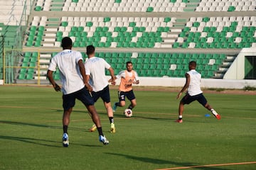
<path fill-rule="evenodd" d="M 63 92 L 63 147 L 68 147 L 69 145 L 68 125 L 76 98 L 82 101 L 87 111 L 92 115 L 92 121 L 97 126 L 99 132 L 100 142 L 107 145 L 109 141 L 103 135 L 100 117 L 95 109 L 93 98 L 90 96 L 92 87 L 86 81 L 82 55 L 80 52 L 71 50 L 72 40 L 69 37 L 63 38 L 61 43 L 63 51 L 52 58 L 47 76 L 55 91 Z M 53 72 L 56 71 L 56 67 L 60 70 L 62 89 L 60 89 L 60 86 L 53 79 Z"/>

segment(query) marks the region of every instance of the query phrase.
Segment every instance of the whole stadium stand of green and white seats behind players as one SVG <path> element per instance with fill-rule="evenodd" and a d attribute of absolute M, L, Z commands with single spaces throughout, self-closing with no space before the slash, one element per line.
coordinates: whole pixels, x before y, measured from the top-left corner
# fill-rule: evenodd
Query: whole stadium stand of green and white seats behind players
<path fill-rule="evenodd" d="M 17 82 L 46 79 L 65 36 L 85 59 L 95 45 L 116 74 L 131 60 L 142 77 L 183 77 L 196 60 L 203 78 L 222 78 L 239 50 L 256 47 L 255 27 L 253 0 L 37 0 Z"/>

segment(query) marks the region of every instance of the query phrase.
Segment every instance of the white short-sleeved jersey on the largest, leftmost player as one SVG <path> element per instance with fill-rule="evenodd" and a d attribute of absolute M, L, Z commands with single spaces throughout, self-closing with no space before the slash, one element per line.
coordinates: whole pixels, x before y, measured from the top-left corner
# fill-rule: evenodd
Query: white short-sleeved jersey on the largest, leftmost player
<path fill-rule="evenodd" d="M 63 94 L 71 94 L 85 87 L 80 73 L 78 61 L 82 60 L 80 52 L 63 50 L 55 55 L 49 66 L 49 70 L 55 72 L 56 67 L 60 70 Z"/>

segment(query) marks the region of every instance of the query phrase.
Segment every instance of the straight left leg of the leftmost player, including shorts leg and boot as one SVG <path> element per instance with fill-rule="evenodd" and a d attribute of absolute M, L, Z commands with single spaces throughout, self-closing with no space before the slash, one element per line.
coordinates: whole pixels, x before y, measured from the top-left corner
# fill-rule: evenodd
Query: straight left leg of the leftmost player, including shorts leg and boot
<path fill-rule="evenodd" d="M 75 106 L 74 94 L 63 95 L 63 147 L 68 147 L 68 125 L 70 123 L 70 114 Z"/>

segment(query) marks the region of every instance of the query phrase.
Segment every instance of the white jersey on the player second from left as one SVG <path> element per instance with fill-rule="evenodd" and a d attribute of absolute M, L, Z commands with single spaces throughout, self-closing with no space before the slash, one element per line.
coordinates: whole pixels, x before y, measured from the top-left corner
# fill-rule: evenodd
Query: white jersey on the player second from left
<path fill-rule="evenodd" d="M 90 75 L 89 84 L 93 91 L 102 91 L 108 85 L 105 69 L 110 67 L 110 64 L 100 57 L 91 57 L 85 62 L 85 74 Z"/>

